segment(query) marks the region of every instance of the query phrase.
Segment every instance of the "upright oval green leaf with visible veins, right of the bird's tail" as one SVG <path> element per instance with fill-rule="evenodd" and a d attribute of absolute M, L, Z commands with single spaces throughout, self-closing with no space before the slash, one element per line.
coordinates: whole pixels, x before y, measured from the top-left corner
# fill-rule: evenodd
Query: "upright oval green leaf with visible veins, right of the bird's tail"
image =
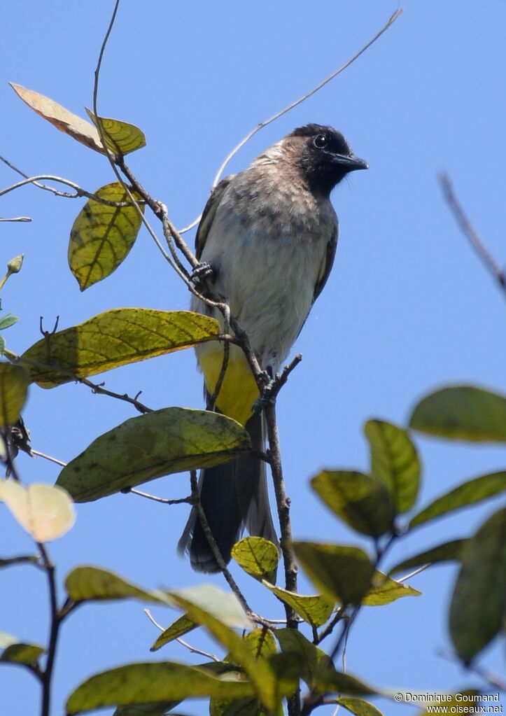
<path fill-rule="evenodd" d="M 417 450 L 406 430 L 384 420 L 368 420 L 364 427 L 371 447 L 371 473 L 381 480 L 398 513 L 412 508 L 420 485 Z"/>

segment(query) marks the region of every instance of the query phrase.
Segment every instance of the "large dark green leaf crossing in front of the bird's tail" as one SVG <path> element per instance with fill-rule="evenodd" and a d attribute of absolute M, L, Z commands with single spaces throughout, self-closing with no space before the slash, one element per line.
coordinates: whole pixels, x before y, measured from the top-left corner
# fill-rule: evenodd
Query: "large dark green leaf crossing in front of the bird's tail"
<path fill-rule="evenodd" d="M 167 407 L 97 437 L 63 468 L 57 484 L 76 502 L 89 502 L 162 475 L 218 465 L 248 448 L 248 433 L 235 420 Z"/>

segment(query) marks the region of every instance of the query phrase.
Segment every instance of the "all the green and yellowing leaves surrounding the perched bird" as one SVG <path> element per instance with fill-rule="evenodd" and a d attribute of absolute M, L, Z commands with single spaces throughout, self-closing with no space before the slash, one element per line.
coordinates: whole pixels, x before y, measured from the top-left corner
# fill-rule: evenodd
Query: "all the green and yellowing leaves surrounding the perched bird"
<path fill-rule="evenodd" d="M 143 147 L 145 137 L 128 122 L 97 117 L 87 110 L 92 120 L 89 123 L 37 92 L 20 85 L 13 88 L 57 129 L 107 155 L 129 182 L 118 180 L 99 188 L 74 222 L 69 238 L 69 266 L 84 291 L 110 276 L 127 258 L 137 238 L 148 200 L 139 188 L 130 185 L 132 177 L 124 155 Z M 0 288 L 20 268 L 21 260 L 9 262 Z M 5 316 L 0 330 L 15 320 L 14 316 Z M 98 500 L 153 478 L 216 465 L 250 450 L 243 427 L 216 412 L 183 407 L 151 411 L 142 407 L 144 415 L 131 417 L 98 436 L 77 455 L 61 470 L 57 485 L 26 488 L 17 481 L 11 435 L 31 382 L 50 390 L 120 365 L 224 338 L 218 321 L 200 314 L 133 308 L 104 311 L 77 326 L 44 334 L 20 357 L 6 351 L 0 339 L 0 350 L 11 361 L 0 363 L 2 455 L 9 473 L 8 479 L 0 481 L 0 500 L 39 544 L 39 555 L 21 560 L 47 571 L 53 589 L 54 566 L 42 543 L 72 528 L 72 500 Z M 301 707 L 294 695 L 303 682 L 303 714 L 326 700 L 334 700 L 351 713 L 377 715 L 376 707 L 362 697 L 389 692 L 370 686 L 366 679 L 340 672 L 334 659 L 363 606 L 384 606 L 396 599 L 420 595 L 404 580 L 392 579 L 391 574 L 427 563 L 459 563 L 449 609 L 449 631 L 465 664 L 472 663 L 499 634 L 506 611 L 504 509 L 487 517 L 474 536 L 463 536 L 404 558 L 390 567 L 388 576 L 379 570 L 390 546 L 413 530 L 506 490 L 506 472 L 482 475 L 463 482 L 422 509 L 417 508 L 422 465 L 412 431 L 445 440 L 505 442 L 505 426 L 506 398 L 475 386 L 446 387 L 424 397 L 407 426 L 386 420 L 367 421 L 364 432 L 371 456 L 369 472 L 332 468 L 311 480 L 311 488 L 336 520 L 362 540 L 361 547 L 332 541 L 293 541 L 283 545 L 293 549 L 316 594 L 298 594 L 287 584 L 277 583 L 279 553 L 273 543 L 247 537 L 233 548 L 233 558 L 245 574 L 276 596 L 278 604 L 286 606 L 288 623 L 282 627 L 251 611 L 236 586 L 226 593 L 206 585 L 186 591 L 153 591 L 102 567 L 79 566 L 65 579 L 63 603 L 52 605 L 54 638 L 47 647 L 24 644 L 4 634 L 0 661 L 20 664 L 47 684 L 52 676 L 52 659 L 47 654 L 54 654 L 58 629 L 77 605 L 137 599 L 181 612 L 162 631 L 152 651 L 188 632 L 203 629 L 218 642 L 225 654 L 223 659 L 210 658 L 198 666 L 140 662 L 95 674 L 69 694 L 68 714 L 112 705 L 117 707 L 117 716 L 161 716 L 192 697 L 208 697 L 213 716 L 278 715 L 284 700 L 288 700 L 290 712 L 296 714 Z M 197 499 L 193 493 L 187 501 L 195 503 Z M 19 561 L 15 557 L 2 558 L 0 567 Z M 324 651 L 321 645 L 336 632 L 339 636 L 334 645 Z M 42 713 L 48 713 L 44 705 Z"/>

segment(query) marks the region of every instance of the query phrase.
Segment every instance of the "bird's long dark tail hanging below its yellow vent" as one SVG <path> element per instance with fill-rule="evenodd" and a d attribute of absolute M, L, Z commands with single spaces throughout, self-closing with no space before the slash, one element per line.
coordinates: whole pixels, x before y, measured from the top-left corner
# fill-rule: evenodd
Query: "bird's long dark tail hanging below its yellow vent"
<path fill-rule="evenodd" d="M 263 450 L 263 416 L 253 415 L 245 428 L 252 447 Z M 264 460 L 245 454 L 230 463 L 205 468 L 200 473 L 199 488 L 200 503 L 225 562 L 230 561 L 232 547 L 244 527 L 250 535 L 265 537 L 278 545 L 269 508 Z M 195 571 L 220 571 L 195 507 L 177 549 L 180 553 L 190 553 L 190 563 Z"/>

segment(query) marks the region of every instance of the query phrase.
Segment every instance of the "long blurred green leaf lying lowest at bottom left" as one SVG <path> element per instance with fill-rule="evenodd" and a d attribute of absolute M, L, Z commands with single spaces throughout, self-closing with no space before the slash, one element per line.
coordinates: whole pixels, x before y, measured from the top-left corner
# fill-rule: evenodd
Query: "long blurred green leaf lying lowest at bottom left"
<path fill-rule="evenodd" d="M 67 700 L 67 714 L 105 706 L 146 705 L 181 701 L 188 697 L 220 696 L 243 698 L 253 695 L 249 682 L 221 676 L 202 667 L 188 667 L 174 662 L 127 664 L 95 674 L 77 687 Z"/>

